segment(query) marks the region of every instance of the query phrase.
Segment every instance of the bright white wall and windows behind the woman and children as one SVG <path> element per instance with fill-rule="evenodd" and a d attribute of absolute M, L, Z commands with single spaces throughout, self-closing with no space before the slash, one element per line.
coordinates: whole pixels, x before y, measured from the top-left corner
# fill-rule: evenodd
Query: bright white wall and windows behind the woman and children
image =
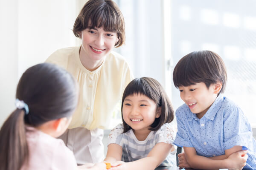
<path fill-rule="evenodd" d="M 0 0 L 0 125 L 14 109 L 17 81 L 26 68 L 58 48 L 80 45 L 73 23 L 86 0 Z M 126 25 L 126 43 L 115 51 L 135 77 L 153 77 L 175 109 L 183 104 L 172 70 L 197 50 L 219 54 L 227 66 L 225 96 L 256 127 L 255 0 L 115 0 Z M 120 114 L 113 116 L 120 120 Z M 113 123 L 114 126 L 115 123 Z"/>

